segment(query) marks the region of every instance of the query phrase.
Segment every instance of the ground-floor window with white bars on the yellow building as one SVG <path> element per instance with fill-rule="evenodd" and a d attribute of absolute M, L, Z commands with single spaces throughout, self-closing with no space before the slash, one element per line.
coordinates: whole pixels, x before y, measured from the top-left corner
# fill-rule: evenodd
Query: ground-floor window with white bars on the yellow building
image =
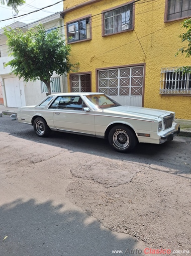
<path fill-rule="evenodd" d="M 180 68 L 162 68 L 160 94 L 191 94 L 191 74 L 183 74 Z"/>

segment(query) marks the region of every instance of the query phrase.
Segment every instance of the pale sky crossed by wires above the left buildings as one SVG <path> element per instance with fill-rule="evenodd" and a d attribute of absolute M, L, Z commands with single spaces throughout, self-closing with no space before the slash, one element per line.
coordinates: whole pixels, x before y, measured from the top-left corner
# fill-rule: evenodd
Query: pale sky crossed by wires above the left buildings
<path fill-rule="evenodd" d="M 49 5 L 54 5 L 57 2 L 60 2 L 61 0 L 46 0 L 46 1 L 42 1 L 42 0 L 26 0 L 26 4 L 24 4 L 23 6 L 19 7 L 19 15 L 23 15 L 23 14 L 28 14 L 30 12 L 36 11 L 38 9 L 44 8 L 46 6 Z M 6 2 L 6 1 L 5 1 Z M 42 18 L 45 18 L 49 15 L 52 15 L 54 13 L 57 12 L 62 12 L 63 11 L 63 1 L 60 2 L 59 4 L 56 4 L 52 7 L 49 8 L 45 8 L 42 11 L 39 12 L 35 12 L 29 15 L 25 15 L 23 17 L 14 17 L 15 12 L 7 7 L 7 5 L 1 5 L 0 4 L 0 29 L 8 26 L 16 21 L 20 21 L 23 23 L 31 23 L 34 22 L 36 20 L 40 20 Z M 2 21 L 5 19 L 9 19 L 9 18 L 13 18 L 11 20 L 8 21 Z"/>

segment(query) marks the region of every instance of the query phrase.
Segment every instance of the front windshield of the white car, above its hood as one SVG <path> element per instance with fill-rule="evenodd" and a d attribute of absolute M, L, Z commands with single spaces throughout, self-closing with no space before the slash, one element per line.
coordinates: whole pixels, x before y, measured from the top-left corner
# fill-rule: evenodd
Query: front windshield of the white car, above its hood
<path fill-rule="evenodd" d="M 96 106 L 98 109 L 107 109 L 112 107 L 121 106 L 114 99 L 106 96 L 105 94 L 90 94 L 85 95 L 88 101 L 90 101 L 90 106 Z M 94 108 L 93 108 L 94 109 Z"/>

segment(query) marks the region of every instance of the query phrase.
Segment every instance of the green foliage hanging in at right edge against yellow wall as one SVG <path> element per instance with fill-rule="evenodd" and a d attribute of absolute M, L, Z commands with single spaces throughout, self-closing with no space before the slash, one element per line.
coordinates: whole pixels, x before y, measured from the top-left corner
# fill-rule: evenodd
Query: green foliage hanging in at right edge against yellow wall
<path fill-rule="evenodd" d="M 191 56 L 191 19 L 184 20 L 182 28 L 186 29 L 185 33 L 179 35 L 181 42 L 187 42 L 187 46 L 183 46 L 182 48 L 178 49 L 176 56 L 181 53 L 182 55 L 185 54 L 185 58 L 189 58 Z M 190 66 L 184 66 L 181 68 L 183 73 L 191 73 Z"/>

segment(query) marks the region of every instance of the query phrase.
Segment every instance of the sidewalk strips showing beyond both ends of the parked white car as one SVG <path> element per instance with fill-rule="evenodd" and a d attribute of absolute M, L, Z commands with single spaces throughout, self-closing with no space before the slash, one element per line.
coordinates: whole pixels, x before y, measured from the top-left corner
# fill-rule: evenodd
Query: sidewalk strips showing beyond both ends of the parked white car
<path fill-rule="evenodd" d="M 7 108 L 3 105 L 0 105 L 0 114 L 3 115 L 17 115 L 18 108 Z M 191 120 L 184 120 L 184 119 L 176 119 L 176 122 L 180 124 L 180 136 L 191 137 Z"/>

